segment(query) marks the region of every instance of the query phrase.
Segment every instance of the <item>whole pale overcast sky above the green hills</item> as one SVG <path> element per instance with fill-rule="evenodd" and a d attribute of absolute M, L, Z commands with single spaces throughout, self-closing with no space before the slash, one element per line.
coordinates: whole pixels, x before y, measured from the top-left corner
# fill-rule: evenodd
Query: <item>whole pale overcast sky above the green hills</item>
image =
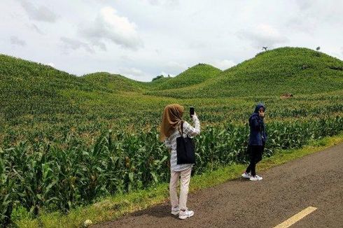
<path fill-rule="evenodd" d="M 343 59 L 342 0 L 1 0 L 0 53 L 150 81 L 297 46 Z"/>

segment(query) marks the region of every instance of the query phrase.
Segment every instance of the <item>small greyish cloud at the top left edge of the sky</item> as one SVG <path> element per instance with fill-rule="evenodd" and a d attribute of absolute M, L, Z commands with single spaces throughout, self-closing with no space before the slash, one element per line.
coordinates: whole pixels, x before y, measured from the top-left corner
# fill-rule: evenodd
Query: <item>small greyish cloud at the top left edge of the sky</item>
<path fill-rule="evenodd" d="M 22 7 L 26 10 L 27 14 L 29 15 L 29 18 L 32 20 L 38 20 L 43 22 L 55 22 L 57 19 L 57 15 L 55 15 L 55 13 L 52 12 L 52 10 L 50 10 L 46 6 L 36 7 L 29 1 L 18 1 L 20 1 Z"/>

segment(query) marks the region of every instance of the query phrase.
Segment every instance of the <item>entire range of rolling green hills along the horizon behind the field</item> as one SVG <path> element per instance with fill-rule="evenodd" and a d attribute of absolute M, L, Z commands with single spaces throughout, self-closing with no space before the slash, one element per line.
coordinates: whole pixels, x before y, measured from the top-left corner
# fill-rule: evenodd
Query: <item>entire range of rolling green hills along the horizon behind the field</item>
<path fill-rule="evenodd" d="M 0 55 L 0 122 L 5 118 L 15 124 L 22 121 L 17 117 L 37 114 L 90 115 L 91 108 L 109 113 L 110 119 L 118 115 L 111 113 L 119 105 L 123 112 L 130 105 L 146 107 L 160 102 L 163 106 L 171 101 L 166 97 L 280 97 L 285 92 L 316 94 L 342 88 L 342 60 L 307 48 L 261 52 L 226 71 L 197 64 L 179 76 L 150 83 L 103 72 L 77 77 L 50 66 Z M 104 111 L 105 107 L 108 110 Z"/>

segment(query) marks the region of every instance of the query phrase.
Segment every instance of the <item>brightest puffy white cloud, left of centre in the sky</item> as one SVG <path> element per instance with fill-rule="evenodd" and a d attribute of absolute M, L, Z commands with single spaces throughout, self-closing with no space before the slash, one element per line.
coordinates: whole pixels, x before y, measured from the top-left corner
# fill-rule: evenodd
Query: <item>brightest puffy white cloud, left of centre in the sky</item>
<path fill-rule="evenodd" d="M 82 24 L 80 34 L 94 46 L 106 50 L 106 41 L 130 50 L 138 50 L 143 46 L 136 24 L 127 17 L 121 17 L 111 7 L 102 8 L 93 22 Z"/>

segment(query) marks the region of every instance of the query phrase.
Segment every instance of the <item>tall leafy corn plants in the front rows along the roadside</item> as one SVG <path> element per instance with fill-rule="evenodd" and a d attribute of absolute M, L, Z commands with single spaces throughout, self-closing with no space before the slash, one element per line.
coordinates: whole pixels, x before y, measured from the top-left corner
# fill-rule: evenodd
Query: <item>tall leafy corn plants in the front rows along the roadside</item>
<path fill-rule="evenodd" d="M 269 122 L 265 156 L 301 148 L 309 141 L 343 130 L 343 117 Z M 64 148 L 22 141 L 0 150 L 0 219 L 8 222 L 18 206 L 34 216 L 69 211 L 118 192 L 144 189 L 169 180 L 169 159 L 158 130 L 135 134 L 106 131 L 91 146 L 70 135 Z M 206 127 L 195 138 L 195 173 L 247 161 L 247 124 Z"/>

